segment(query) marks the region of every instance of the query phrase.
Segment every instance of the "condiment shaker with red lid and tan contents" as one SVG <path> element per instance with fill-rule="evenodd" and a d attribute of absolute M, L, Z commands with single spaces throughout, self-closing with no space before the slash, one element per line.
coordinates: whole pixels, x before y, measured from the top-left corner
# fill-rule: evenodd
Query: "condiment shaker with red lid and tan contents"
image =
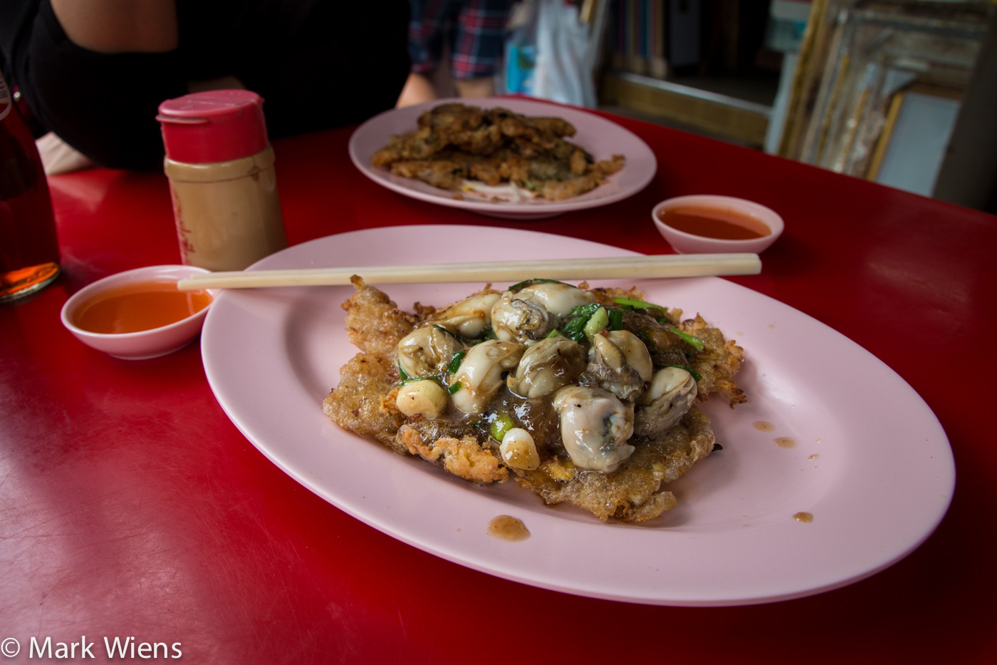
<path fill-rule="evenodd" d="M 259 95 L 192 93 L 166 100 L 157 120 L 184 264 L 240 271 L 287 247 Z"/>

